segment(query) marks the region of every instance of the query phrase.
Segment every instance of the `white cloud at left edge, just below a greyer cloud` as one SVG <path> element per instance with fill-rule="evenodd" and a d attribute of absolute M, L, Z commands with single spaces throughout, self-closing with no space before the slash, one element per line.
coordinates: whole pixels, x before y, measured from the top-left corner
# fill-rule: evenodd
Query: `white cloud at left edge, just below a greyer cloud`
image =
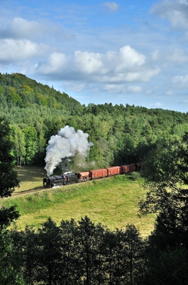
<path fill-rule="evenodd" d="M 49 46 L 43 43 L 33 43 L 28 40 L 0 39 L 0 62 L 13 63 L 25 61 L 34 56 L 44 56 L 50 51 Z"/>

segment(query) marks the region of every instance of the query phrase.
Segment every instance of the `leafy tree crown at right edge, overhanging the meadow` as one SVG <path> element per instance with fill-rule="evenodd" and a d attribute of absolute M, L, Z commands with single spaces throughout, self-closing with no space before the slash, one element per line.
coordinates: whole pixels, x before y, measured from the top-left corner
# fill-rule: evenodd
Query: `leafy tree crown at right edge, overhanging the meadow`
<path fill-rule="evenodd" d="M 188 133 L 182 138 L 160 138 L 144 164 L 145 187 L 149 189 L 141 212 L 157 212 L 167 204 L 182 207 L 188 198 Z"/>

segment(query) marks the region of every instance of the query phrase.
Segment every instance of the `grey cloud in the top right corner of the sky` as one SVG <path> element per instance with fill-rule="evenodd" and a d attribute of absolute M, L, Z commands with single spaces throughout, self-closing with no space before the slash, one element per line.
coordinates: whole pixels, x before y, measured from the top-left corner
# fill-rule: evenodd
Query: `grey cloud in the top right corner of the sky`
<path fill-rule="evenodd" d="M 187 0 L 164 0 L 154 4 L 151 13 L 167 19 L 174 28 L 188 27 L 188 1 Z"/>

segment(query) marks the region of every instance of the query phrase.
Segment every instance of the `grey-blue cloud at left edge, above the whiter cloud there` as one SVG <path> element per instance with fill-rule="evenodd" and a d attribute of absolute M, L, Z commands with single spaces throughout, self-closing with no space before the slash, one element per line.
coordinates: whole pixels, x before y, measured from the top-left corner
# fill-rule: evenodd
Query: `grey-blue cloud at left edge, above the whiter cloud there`
<path fill-rule="evenodd" d="M 0 27 L 0 38 L 31 38 L 33 35 L 43 35 L 47 27 L 36 21 L 27 21 L 22 18 L 14 18 L 6 26 Z"/>

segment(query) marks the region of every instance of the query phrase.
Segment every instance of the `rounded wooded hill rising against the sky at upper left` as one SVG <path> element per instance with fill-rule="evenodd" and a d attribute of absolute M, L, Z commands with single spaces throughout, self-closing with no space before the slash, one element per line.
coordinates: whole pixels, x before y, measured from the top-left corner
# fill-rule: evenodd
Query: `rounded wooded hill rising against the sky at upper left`
<path fill-rule="evenodd" d="M 45 106 L 51 109 L 74 113 L 81 104 L 66 93 L 53 87 L 37 83 L 21 73 L 0 74 L 1 103 L 4 106 L 28 108 L 29 105 Z"/>

